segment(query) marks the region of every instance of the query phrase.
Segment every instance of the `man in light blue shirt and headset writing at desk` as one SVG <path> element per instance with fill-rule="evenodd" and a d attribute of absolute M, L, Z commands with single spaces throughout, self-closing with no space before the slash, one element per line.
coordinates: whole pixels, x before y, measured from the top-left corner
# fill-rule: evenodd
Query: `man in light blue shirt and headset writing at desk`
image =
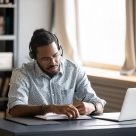
<path fill-rule="evenodd" d="M 12 73 L 8 101 L 12 116 L 53 112 L 73 119 L 103 112 L 106 102 L 96 96 L 85 72 L 62 57 L 62 48 L 54 34 L 36 30 L 29 50 L 34 61 Z"/>

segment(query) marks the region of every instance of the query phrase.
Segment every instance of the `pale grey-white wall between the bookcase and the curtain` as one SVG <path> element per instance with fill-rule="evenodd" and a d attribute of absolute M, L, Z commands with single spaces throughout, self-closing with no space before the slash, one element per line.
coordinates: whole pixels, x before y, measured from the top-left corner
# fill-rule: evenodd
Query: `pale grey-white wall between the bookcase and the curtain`
<path fill-rule="evenodd" d="M 50 27 L 51 0 L 18 0 L 17 66 L 29 61 L 29 42 L 37 28 Z"/>

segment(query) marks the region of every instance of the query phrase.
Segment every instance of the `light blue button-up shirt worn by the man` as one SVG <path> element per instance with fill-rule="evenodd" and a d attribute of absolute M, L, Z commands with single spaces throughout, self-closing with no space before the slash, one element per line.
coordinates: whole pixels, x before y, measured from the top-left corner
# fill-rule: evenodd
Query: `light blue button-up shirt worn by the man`
<path fill-rule="evenodd" d="M 60 70 L 52 78 L 44 73 L 36 61 L 23 64 L 12 72 L 8 109 L 20 104 L 71 104 L 74 100 L 100 102 L 91 88 L 84 70 L 61 58 Z"/>

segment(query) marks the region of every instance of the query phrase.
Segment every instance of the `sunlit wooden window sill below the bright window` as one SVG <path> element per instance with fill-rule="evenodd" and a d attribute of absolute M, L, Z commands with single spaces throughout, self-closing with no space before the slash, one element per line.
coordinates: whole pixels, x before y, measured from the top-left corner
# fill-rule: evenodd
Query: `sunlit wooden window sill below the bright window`
<path fill-rule="evenodd" d="M 120 75 L 119 71 L 84 67 L 89 79 L 93 82 L 106 82 L 114 86 L 136 87 L 136 75 Z"/>

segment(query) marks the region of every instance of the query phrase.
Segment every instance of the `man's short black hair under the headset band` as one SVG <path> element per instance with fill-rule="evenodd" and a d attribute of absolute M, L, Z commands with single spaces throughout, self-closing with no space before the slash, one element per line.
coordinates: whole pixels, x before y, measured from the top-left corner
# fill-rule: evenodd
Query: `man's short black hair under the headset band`
<path fill-rule="evenodd" d="M 29 43 L 30 54 L 33 58 L 36 58 L 37 48 L 49 45 L 52 42 L 55 42 L 58 46 L 58 39 L 53 33 L 43 28 L 35 30 Z"/>

